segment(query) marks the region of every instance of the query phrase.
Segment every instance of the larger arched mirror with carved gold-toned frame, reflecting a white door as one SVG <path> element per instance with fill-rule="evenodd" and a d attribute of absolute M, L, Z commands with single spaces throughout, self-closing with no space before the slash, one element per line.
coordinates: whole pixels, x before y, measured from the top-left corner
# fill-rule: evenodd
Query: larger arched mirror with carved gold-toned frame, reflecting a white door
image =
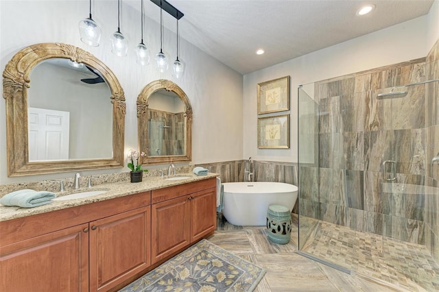
<path fill-rule="evenodd" d="M 123 167 L 123 89 L 112 71 L 91 53 L 62 43 L 25 47 L 5 66 L 3 97 L 8 176 Z M 44 116 L 38 116 L 41 110 Z M 51 127 L 35 130 L 38 119 L 41 125 L 68 123 L 64 132 Z M 51 139 L 43 141 L 42 136 Z M 43 153 L 50 154 L 40 156 Z"/>

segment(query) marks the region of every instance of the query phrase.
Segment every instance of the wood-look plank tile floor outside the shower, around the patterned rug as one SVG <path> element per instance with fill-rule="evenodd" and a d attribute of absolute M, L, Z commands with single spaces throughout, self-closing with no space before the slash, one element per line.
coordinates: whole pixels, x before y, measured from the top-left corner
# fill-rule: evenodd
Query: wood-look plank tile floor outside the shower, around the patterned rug
<path fill-rule="evenodd" d="M 294 217 L 293 221 L 289 243 L 279 245 L 268 240 L 268 230 L 264 226 L 234 226 L 219 215 L 217 230 L 208 240 L 267 271 L 254 292 L 427 291 L 415 284 L 407 288 L 407 285 L 399 283 L 392 284 L 357 273 L 345 273 L 297 254 L 298 224 Z"/>

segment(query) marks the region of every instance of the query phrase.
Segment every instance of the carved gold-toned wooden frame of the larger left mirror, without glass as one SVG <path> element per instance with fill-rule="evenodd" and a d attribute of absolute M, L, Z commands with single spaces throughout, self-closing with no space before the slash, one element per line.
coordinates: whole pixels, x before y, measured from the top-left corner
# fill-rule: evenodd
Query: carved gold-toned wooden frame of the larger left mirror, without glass
<path fill-rule="evenodd" d="M 97 69 L 110 88 L 112 103 L 112 158 L 29 162 L 27 145 L 27 88 L 29 74 L 43 60 L 66 58 Z M 38 175 L 88 169 L 123 167 L 126 104 L 123 89 L 108 67 L 91 53 L 73 45 L 41 43 L 25 47 L 12 57 L 3 71 L 6 100 L 8 176 Z"/>

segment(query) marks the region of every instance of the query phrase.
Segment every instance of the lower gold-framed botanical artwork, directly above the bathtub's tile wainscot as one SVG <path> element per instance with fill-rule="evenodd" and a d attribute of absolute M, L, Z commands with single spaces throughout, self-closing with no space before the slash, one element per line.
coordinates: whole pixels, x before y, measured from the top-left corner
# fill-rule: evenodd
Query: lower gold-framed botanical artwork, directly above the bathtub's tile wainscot
<path fill-rule="evenodd" d="M 258 118 L 259 149 L 289 149 L 289 114 Z"/>

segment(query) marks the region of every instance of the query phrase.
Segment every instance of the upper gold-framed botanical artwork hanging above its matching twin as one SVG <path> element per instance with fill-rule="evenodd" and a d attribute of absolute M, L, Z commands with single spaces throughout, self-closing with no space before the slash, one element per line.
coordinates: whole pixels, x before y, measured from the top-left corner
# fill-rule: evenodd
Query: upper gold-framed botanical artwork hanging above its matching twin
<path fill-rule="evenodd" d="M 257 85 L 258 114 L 289 110 L 289 76 Z"/>

